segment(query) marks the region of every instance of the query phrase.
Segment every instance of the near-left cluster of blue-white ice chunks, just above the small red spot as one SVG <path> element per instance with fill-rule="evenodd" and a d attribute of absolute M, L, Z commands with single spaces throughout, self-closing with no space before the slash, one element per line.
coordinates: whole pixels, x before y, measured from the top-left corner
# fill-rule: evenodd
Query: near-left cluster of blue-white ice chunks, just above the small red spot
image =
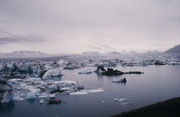
<path fill-rule="evenodd" d="M 2 100 L 1 103 L 8 103 L 11 100 L 48 99 L 56 96 L 58 92 L 69 94 L 81 88 L 75 81 L 42 80 L 40 78 L 10 79 L 8 84 L 12 86 L 12 95 L 9 97 L 5 95 L 5 100 Z M 52 91 L 57 92 L 51 93 Z"/>

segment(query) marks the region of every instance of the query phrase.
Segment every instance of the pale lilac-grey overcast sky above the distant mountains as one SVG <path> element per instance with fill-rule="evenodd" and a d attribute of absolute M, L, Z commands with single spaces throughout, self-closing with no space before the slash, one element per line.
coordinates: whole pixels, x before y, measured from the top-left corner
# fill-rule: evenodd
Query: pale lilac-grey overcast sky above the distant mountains
<path fill-rule="evenodd" d="M 180 44 L 180 0 L 0 0 L 0 52 L 165 50 Z"/>

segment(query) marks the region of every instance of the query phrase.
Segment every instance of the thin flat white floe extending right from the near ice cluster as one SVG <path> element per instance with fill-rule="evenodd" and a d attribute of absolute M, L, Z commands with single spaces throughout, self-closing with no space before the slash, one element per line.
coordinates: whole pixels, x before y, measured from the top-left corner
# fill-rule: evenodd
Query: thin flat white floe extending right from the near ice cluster
<path fill-rule="evenodd" d="M 98 89 L 81 90 L 77 92 L 72 92 L 70 93 L 70 95 L 87 95 L 89 93 L 98 93 L 98 92 L 104 92 L 104 89 L 98 88 Z"/>

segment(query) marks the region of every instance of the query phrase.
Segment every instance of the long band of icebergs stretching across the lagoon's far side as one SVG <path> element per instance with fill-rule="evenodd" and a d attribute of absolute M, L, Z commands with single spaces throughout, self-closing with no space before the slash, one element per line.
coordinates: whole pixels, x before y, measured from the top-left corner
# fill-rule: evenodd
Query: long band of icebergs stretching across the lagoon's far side
<path fill-rule="evenodd" d="M 60 60 L 21 60 L 0 62 L 0 76 L 4 78 L 60 77 L 61 71 L 83 67 L 116 67 L 116 66 L 148 66 L 148 65 L 180 65 L 180 60 L 164 56 L 134 55 L 116 57 L 69 56 Z M 92 71 L 80 72 L 90 74 Z"/>

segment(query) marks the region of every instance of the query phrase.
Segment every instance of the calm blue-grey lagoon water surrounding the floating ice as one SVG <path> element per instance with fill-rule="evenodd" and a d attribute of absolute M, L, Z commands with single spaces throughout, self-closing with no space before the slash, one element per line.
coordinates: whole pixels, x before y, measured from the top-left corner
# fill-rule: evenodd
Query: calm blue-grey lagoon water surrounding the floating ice
<path fill-rule="evenodd" d="M 0 105 L 0 117 L 109 117 L 123 111 L 180 96 L 180 66 L 118 67 L 122 71 L 143 71 L 142 75 L 98 76 L 64 70 L 61 80 L 78 81 L 86 89 L 104 88 L 104 92 L 60 96 L 62 104 L 47 105 L 39 101 Z M 126 77 L 126 84 L 112 83 Z M 122 105 L 114 98 L 126 98 L 132 104 Z"/>

